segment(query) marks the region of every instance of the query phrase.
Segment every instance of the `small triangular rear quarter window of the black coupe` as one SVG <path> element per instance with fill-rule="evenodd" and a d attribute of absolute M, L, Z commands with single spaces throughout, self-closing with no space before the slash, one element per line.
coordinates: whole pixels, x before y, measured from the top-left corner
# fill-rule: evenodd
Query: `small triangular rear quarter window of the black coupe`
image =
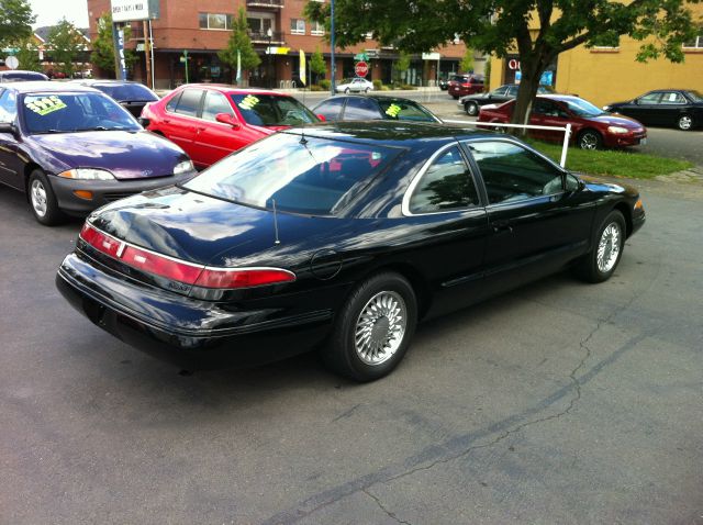
<path fill-rule="evenodd" d="M 459 148 L 454 146 L 437 157 L 415 187 L 411 213 L 461 210 L 479 202 L 471 172 Z"/>

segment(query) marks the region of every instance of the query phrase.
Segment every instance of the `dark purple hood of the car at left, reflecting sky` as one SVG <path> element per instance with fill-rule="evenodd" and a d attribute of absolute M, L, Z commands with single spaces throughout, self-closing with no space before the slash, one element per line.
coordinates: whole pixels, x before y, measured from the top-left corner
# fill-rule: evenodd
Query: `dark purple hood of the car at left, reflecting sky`
<path fill-rule="evenodd" d="M 186 158 L 177 145 L 146 131 L 94 131 L 30 135 L 27 143 L 53 166 L 101 168 L 118 179 L 143 179 L 174 175 Z M 60 168 L 58 168 L 60 169 Z"/>

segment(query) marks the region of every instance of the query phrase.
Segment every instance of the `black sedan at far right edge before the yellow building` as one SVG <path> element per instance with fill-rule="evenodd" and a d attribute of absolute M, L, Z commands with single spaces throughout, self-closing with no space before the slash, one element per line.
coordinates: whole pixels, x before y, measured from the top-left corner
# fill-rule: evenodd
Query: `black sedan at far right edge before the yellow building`
<path fill-rule="evenodd" d="M 658 89 L 603 109 L 648 126 L 676 126 L 682 131 L 703 126 L 703 94 L 694 89 Z"/>

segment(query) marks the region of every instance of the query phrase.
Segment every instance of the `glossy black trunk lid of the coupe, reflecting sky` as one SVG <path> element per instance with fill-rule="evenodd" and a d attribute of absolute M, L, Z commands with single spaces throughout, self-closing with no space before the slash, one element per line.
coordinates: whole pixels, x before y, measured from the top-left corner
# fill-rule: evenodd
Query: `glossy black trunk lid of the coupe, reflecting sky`
<path fill-rule="evenodd" d="M 120 239 L 200 265 L 287 268 L 310 259 L 306 246 L 347 222 L 274 213 L 169 187 L 123 199 L 94 212 L 89 221 Z"/>

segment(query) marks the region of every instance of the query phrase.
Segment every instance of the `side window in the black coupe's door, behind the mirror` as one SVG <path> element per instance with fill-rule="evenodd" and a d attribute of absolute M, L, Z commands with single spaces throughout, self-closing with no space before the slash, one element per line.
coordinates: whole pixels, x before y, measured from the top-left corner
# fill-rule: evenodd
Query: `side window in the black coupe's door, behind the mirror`
<path fill-rule="evenodd" d="M 563 191 L 561 171 L 517 144 L 487 141 L 467 145 L 481 170 L 490 204 Z"/>

